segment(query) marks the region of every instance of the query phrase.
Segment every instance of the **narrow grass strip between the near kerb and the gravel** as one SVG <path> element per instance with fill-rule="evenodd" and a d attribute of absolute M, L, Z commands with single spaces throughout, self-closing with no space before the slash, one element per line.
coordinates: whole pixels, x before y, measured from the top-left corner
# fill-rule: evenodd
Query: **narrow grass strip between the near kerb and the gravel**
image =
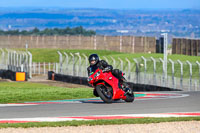
<path fill-rule="evenodd" d="M 63 126 L 81 126 L 81 125 L 93 126 L 93 125 L 116 125 L 116 124 L 149 124 L 149 123 L 179 122 L 179 121 L 200 121 L 200 117 L 139 118 L 139 119 L 40 122 L 40 123 L 4 123 L 4 124 L 0 124 L 0 128 L 63 127 Z"/>

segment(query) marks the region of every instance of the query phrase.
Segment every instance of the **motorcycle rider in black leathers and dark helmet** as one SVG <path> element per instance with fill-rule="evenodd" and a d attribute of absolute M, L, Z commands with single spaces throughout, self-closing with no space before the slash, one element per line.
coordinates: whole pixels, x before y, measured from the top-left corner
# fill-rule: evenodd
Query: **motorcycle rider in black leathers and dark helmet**
<path fill-rule="evenodd" d="M 111 71 L 113 76 L 119 79 L 119 88 L 125 90 L 126 88 L 129 88 L 128 84 L 126 83 L 126 79 L 122 76 L 122 71 L 119 69 L 113 69 L 112 65 L 109 65 L 106 61 L 104 60 L 99 60 L 99 56 L 97 54 L 91 54 L 89 56 L 89 63 L 90 66 L 87 68 L 88 71 L 88 76 L 93 74 L 98 68 L 105 71 Z M 94 95 L 97 93 L 94 92 Z"/>

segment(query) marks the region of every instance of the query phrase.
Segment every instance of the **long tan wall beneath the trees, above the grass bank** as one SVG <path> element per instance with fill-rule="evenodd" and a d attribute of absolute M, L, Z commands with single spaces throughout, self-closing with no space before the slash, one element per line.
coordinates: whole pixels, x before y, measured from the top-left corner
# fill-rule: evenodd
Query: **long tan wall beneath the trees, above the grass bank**
<path fill-rule="evenodd" d="M 136 36 L 0 36 L 0 48 L 60 48 L 155 53 L 155 37 Z"/>

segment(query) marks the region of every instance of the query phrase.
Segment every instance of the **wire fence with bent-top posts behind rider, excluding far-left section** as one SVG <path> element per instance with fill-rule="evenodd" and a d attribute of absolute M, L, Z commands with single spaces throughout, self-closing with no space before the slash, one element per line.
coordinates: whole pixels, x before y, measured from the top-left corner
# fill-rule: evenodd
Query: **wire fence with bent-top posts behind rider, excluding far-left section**
<path fill-rule="evenodd" d="M 59 74 L 87 77 L 88 57 L 80 53 L 61 53 L 55 71 Z M 120 58 L 102 56 L 113 68 L 125 72 L 129 82 L 137 84 L 163 86 L 185 91 L 200 90 L 200 63 L 198 61 L 171 60 L 167 62 L 167 75 L 165 75 L 162 58 Z"/>

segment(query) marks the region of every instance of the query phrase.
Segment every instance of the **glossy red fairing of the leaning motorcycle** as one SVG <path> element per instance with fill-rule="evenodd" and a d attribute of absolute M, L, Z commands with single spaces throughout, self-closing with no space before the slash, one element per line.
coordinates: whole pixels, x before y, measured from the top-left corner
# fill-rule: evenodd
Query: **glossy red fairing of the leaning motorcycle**
<path fill-rule="evenodd" d="M 119 80 L 109 72 L 103 72 L 101 69 L 97 69 L 92 75 L 88 77 L 88 82 L 95 88 L 97 85 L 109 84 L 113 89 L 112 99 L 126 99 L 124 91 L 119 88 Z"/>

